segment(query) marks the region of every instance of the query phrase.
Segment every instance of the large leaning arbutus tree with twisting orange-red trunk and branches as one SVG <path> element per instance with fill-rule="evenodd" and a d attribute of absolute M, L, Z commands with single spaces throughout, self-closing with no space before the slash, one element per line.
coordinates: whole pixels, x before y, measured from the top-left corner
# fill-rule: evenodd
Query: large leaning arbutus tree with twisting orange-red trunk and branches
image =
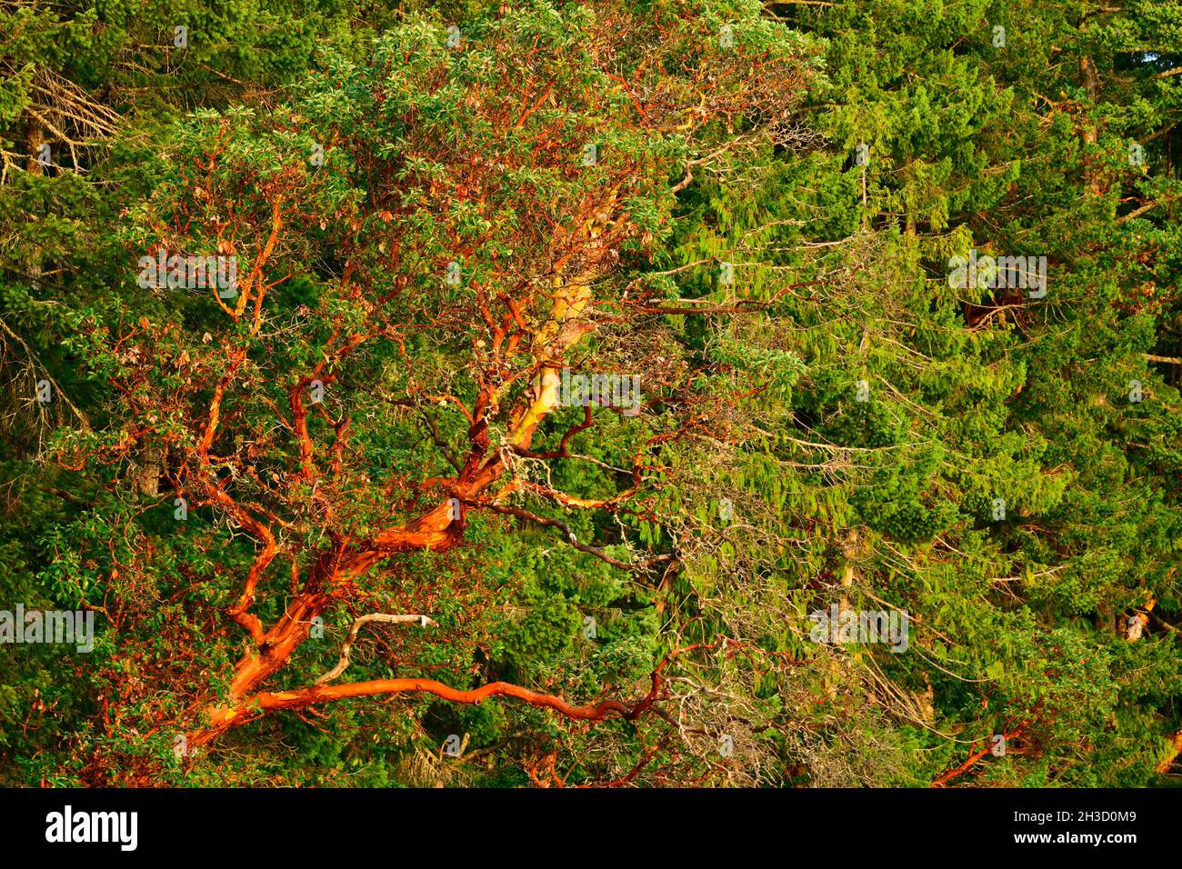
<path fill-rule="evenodd" d="M 474 517 L 557 531 L 642 586 L 675 569 L 643 534 L 609 552 L 561 517 L 657 521 L 662 445 L 725 416 L 727 396 L 700 389 L 661 324 L 743 304 L 674 301 L 647 262 L 695 173 L 790 138 L 814 50 L 758 8 L 533 4 L 450 30 L 410 18 L 371 65 L 326 58 L 286 108 L 176 128 L 157 194 L 125 215 L 128 286 L 141 278 L 131 291 L 154 313 L 119 329 L 79 318 L 112 397 L 105 426 L 59 442 L 65 465 L 109 480 L 80 551 L 59 546 L 54 569 L 111 628 L 95 777 L 155 774 L 123 771 L 104 744 L 188 753 L 274 711 L 362 696 L 504 695 L 677 731 L 661 707 L 668 669 L 733 657 L 727 637 L 652 650 L 645 683 L 585 701 L 468 688 L 462 673 L 349 681 L 350 647 L 365 625 L 403 624 L 417 651 L 402 663 L 446 661 L 431 607 L 462 602 L 424 577 Z M 197 257 L 225 258 L 236 280 L 196 273 Z M 592 407 L 572 376 L 638 376 L 643 397 Z M 578 437 L 603 453 L 572 452 Z M 113 482 L 145 454 L 164 456 L 148 502 L 151 486 Z M 597 475 L 564 487 L 559 466 L 579 462 Z M 391 588 L 414 610 L 377 609 Z M 336 666 L 281 685 L 340 614 Z"/>

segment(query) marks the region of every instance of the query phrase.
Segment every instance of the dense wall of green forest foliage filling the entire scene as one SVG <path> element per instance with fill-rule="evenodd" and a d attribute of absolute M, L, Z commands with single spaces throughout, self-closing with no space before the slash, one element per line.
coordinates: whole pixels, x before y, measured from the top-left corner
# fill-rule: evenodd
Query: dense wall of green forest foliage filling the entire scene
<path fill-rule="evenodd" d="M 181 6 L 0 5 L 0 784 L 1173 779 L 1182 2 Z"/>

